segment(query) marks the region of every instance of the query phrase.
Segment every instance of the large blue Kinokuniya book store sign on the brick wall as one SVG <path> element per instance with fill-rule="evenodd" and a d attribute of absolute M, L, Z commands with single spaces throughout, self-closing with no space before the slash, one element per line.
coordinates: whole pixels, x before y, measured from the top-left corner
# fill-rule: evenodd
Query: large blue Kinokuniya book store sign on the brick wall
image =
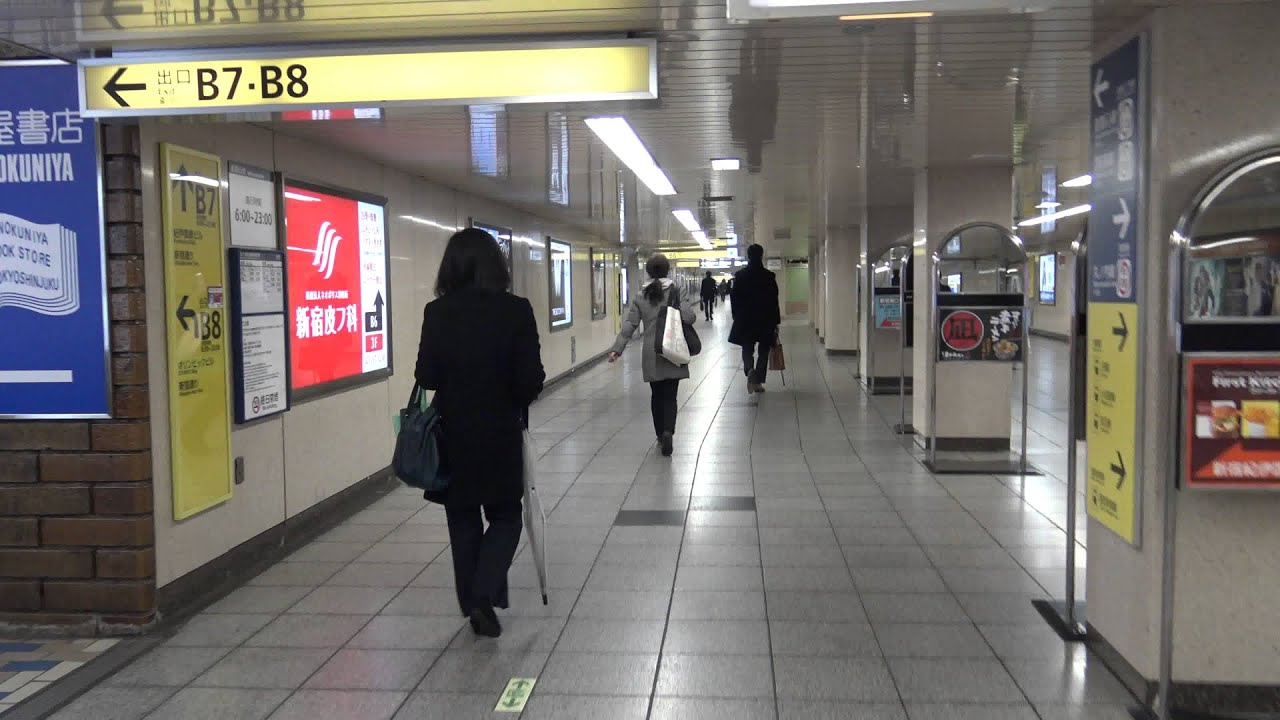
<path fill-rule="evenodd" d="M 110 413 L 97 126 L 76 65 L 0 63 L 0 418 Z"/>

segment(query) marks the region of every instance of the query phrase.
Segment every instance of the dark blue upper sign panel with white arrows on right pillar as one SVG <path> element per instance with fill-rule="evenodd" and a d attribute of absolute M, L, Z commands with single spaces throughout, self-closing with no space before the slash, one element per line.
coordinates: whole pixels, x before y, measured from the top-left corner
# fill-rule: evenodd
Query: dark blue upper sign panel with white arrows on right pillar
<path fill-rule="evenodd" d="M 1093 211 L 1089 300 L 1137 302 L 1143 237 L 1146 38 L 1139 35 L 1094 63 L 1089 76 Z"/>

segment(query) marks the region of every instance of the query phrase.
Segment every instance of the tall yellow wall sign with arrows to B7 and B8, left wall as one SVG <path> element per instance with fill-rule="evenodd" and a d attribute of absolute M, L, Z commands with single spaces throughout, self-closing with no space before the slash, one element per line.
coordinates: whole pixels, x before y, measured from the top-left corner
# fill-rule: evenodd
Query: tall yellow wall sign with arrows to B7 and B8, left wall
<path fill-rule="evenodd" d="M 160 146 L 173 516 L 232 496 L 221 160 Z"/>

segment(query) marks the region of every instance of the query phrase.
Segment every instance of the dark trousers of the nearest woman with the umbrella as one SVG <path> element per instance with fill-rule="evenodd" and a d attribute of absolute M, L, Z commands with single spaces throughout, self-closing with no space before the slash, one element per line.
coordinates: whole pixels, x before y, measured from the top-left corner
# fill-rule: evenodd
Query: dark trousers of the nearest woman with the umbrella
<path fill-rule="evenodd" d="M 472 607 L 508 607 L 507 570 L 520 546 L 520 501 L 480 507 L 447 507 L 449 542 L 453 547 L 453 582 L 458 609 L 470 615 Z"/>

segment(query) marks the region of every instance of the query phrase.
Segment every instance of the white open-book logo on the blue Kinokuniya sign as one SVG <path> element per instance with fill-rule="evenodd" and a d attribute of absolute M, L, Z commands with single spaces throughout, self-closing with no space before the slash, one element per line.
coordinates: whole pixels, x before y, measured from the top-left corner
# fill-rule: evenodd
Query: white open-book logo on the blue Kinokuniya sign
<path fill-rule="evenodd" d="M 70 315 L 79 305 L 76 233 L 0 213 L 0 307 Z"/>

